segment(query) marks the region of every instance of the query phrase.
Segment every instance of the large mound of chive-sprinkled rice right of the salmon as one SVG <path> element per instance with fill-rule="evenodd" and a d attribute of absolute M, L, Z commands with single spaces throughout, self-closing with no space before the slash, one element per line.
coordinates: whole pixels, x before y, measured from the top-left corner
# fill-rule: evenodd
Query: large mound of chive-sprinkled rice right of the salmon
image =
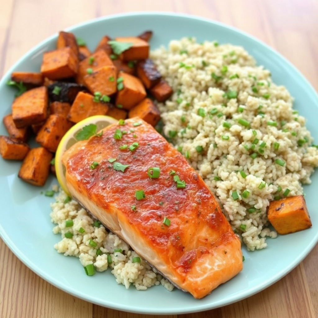
<path fill-rule="evenodd" d="M 151 52 L 174 93 L 163 133 L 216 196 L 248 250 L 267 246 L 270 201 L 303 193 L 318 149 L 284 86 L 240 46 L 173 40 Z"/>

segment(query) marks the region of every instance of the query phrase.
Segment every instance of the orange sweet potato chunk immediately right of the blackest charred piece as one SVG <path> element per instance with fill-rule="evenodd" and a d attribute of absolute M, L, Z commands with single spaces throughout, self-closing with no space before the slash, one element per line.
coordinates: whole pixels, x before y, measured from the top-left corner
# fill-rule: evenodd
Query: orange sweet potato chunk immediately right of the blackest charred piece
<path fill-rule="evenodd" d="M 115 66 L 103 66 L 84 77 L 85 86 L 94 94 L 113 95 L 117 91 L 117 70 Z"/>

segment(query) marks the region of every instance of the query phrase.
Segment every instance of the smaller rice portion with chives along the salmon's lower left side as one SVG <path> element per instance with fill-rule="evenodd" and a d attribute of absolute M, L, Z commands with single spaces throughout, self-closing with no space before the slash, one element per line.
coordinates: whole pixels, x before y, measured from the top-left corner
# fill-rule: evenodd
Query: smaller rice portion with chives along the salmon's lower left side
<path fill-rule="evenodd" d="M 133 258 L 139 255 L 117 235 L 107 232 L 77 201 L 67 197 L 57 187 L 53 187 L 53 190 L 58 193 L 51 204 L 50 217 L 56 224 L 53 233 L 61 234 L 62 239 L 54 245 L 59 253 L 78 257 L 84 267 L 93 264 L 98 272 L 110 268 L 116 282 L 127 289 L 133 285 L 137 290 L 146 290 L 161 284 L 167 290 L 173 290 L 173 285 L 141 257 L 140 262 L 133 262 Z M 66 226 L 66 220 L 72 220 L 73 225 Z M 72 234 L 71 238 L 65 237 L 68 232 Z M 90 245 L 91 240 L 96 246 Z M 111 262 L 108 262 L 108 255 Z"/>

